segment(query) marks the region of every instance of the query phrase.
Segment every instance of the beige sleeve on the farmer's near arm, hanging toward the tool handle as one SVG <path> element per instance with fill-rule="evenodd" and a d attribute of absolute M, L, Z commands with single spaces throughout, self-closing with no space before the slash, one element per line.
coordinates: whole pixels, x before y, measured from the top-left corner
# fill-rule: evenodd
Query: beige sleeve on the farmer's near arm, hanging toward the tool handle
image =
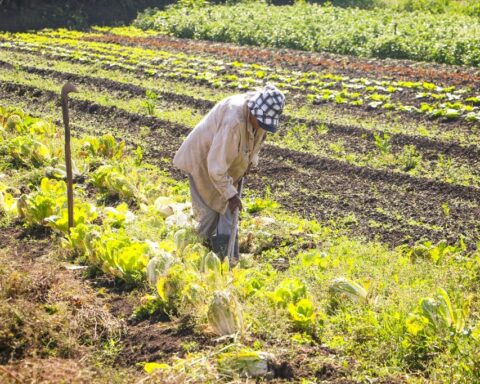
<path fill-rule="evenodd" d="M 228 174 L 228 169 L 238 156 L 240 145 L 239 125 L 237 123 L 220 129 L 213 138 L 207 156 L 210 180 L 225 200 L 238 193 L 233 185 L 233 179 Z"/>

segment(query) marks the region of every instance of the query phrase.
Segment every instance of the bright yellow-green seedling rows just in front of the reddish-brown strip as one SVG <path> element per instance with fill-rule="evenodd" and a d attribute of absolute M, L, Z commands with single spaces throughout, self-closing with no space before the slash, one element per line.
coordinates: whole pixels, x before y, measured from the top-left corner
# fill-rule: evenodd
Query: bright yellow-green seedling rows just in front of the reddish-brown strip
<path fill-rule="evenodd" d="M 367 109 L 393 110 L 456 120 L 480 121 L 480 96 L 469 88 L 443 87 L 430 82 L 350 78 L 330 72 L 289 71 L 264 65 L 224 62 L 167 51 L 81 42 L 64 32 L 63 38 L 15 35 L 0 47 L 43 52 L 57 58 L 100 64 L 106 69 L 140 72 L 150 77 L 195 82 L 214 88 L 254 90 L 266 82 L 306 95 L 314 103 L 332 103 Z M 76 32 L 75 34 L 78 34 Z"/>

